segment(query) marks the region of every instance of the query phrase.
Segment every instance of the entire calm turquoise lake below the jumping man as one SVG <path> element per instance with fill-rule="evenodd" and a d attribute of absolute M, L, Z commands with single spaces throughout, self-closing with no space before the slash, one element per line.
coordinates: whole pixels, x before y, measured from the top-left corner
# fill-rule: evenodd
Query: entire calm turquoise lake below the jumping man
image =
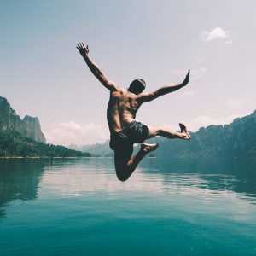
<path fill-rule="evenodd" d="M 256 160 L 0 160 L 0 255 L 256 255 Z"/>

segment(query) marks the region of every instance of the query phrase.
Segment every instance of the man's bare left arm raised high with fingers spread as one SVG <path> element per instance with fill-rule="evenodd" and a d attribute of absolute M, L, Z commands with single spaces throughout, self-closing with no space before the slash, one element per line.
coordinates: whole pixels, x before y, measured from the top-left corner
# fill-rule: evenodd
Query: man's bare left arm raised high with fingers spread
<path fill-rule="evenodd" d="M 110 81 L 101 71 L 101 69 L 90 60 L 89 48 L 88 45 L 85 47 L 83 42 L 77 44 L 77 49 L 79 50 L 80 55 L 84 58 L 87 66 L 90 68 L 90 71 L 96 76 L 96 78 L 108 89 L 108 90 L 117 90 L 118 85 Z"/>

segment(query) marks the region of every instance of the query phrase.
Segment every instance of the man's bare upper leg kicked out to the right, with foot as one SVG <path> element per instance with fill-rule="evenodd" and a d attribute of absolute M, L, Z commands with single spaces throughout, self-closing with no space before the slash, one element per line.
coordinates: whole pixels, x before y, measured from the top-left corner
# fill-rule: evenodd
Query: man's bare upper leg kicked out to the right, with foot
<path fill-rule="evenodd" d="M 155 127 L 150 128 L 147 139 L 155 136 L 162 136 L 169 139 L 180 138 L 184 140 L 189 140 L 191 136 L 189 134 L 189 131 L 187 130 L 187 127 L 183 124 L 178 124 L 178 125 L 181 131 L 171 131 L 169 129 L 155 128 Z"/>

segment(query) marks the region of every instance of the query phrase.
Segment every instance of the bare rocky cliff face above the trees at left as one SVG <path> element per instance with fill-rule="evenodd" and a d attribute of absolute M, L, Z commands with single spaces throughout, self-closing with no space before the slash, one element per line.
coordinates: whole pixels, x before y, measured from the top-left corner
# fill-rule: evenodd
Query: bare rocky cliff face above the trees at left
<path fill-rule="evenodd" d="M 45 137 L 41 131 L 38 118 L 26 115 L 24 119 L 20 119 L 20 116 L 10 107 L 9 102 L 0 96 L 0 131 L 1 130 L 17 131 L 22 136 L 45 143 Z"/>

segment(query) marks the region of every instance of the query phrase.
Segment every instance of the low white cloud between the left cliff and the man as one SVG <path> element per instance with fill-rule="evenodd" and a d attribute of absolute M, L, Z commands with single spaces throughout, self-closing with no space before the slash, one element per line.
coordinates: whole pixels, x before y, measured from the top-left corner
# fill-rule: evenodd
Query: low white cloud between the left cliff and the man
<path fill-rule="evenodd" d="M 77 145 L 102 143 L 108 139 L 108 128 L 102 125 L 80 125 L 73 121 L 61 122 L 49 131 L 44 131 L 47 142 L 53 144 Z"/>

